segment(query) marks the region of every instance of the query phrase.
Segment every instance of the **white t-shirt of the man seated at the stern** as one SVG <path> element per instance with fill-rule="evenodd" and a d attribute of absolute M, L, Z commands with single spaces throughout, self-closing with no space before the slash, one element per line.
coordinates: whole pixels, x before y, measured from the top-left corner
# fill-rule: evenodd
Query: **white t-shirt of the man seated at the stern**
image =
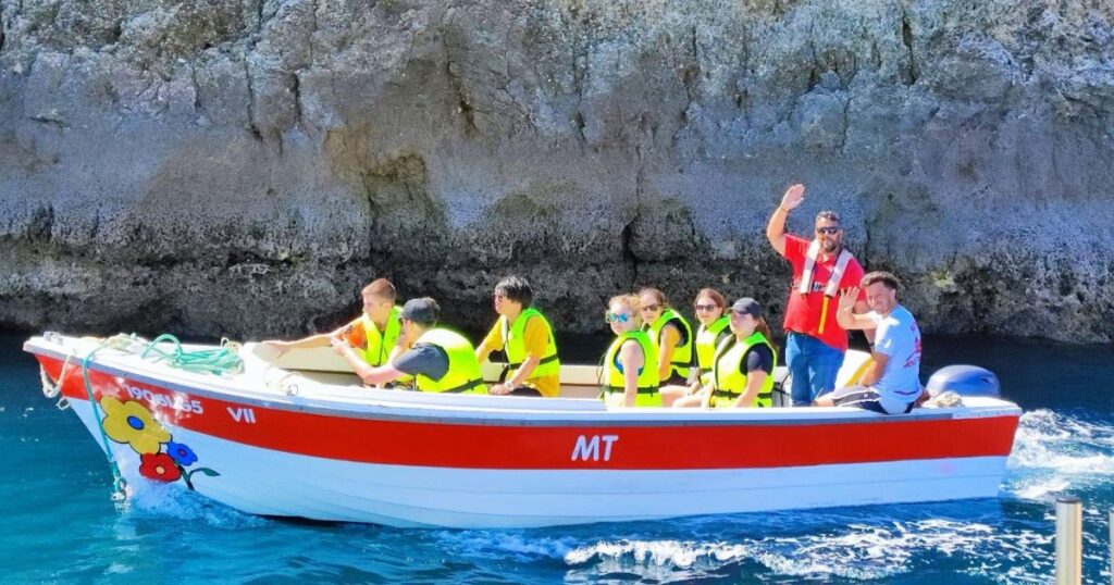
<path fill-rule="evenodd" d="M 920 329 L 900 304 L 889 315 L 868 313 L 878 324 L 874 351 L 889 357 L 882 377 L 871 387 L 885 400 L 909 403 L 920 396 Z"/>

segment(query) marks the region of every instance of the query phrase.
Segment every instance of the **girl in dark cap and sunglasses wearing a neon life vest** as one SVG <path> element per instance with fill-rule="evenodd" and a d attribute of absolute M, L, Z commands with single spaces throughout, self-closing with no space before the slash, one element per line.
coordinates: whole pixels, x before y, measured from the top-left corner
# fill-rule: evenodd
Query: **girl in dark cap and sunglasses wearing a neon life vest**
<path fill-rule="evenodd" d="M 754 299 L 740 299 L 729 312 L 731 335 L 720 342 L 709 382 L 677 400 L 674 407 L 770 408 L 778 350 L 770 341 L 770 325 Z"/>

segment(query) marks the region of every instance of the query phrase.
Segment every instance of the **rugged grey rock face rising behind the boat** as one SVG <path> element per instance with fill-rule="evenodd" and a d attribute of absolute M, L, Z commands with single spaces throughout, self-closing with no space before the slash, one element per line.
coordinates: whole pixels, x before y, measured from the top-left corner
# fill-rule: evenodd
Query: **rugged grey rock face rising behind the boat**
<path fill-rule="evenodd" d="M 566 331 L 752 295 L 833 208 L 927 331 L 1114 339 L 1106 0 L 21 0 L 0 325 L 291 335 L 371 277 Z"/>

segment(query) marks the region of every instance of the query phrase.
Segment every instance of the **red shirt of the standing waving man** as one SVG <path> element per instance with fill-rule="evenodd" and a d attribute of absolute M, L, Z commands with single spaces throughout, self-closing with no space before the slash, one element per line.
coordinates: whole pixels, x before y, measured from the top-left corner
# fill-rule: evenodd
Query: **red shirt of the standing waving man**
<path fill-rule="evenodd" d="M 785 234 L 785 260 L 793 265 L 793 289 L 789 292 L 789 303 L 785 305 L 785 331 L 804 333 L 823 341 L 824 343 L 847 351 L 847 331 L 836 322 L 836 311 L 839 306 L 839 296 L 828 301 L 828 316 L 824 321 L 823 333 L 820 332 L 820 313 L 824 303 L 824 287 L 831 279 L 832 270 L 836 269 L 836 257 L 828 260 L 817 260 L 817 265 L 812 269 L 812 289 L 808 294 L 797 292 L 797 285 L 804 272 L 804 256 L 809 253 L 811 240 L 804 240 L 795 235 Z M 840 291 L 848 286 L 858 286 L 862 282 L 862 266 L 859 261 L 851 259 L 843 271 L 843 279 L 839 283 Z M 859 301 L 867 300 L 867 293 L 859 291 Z"/>

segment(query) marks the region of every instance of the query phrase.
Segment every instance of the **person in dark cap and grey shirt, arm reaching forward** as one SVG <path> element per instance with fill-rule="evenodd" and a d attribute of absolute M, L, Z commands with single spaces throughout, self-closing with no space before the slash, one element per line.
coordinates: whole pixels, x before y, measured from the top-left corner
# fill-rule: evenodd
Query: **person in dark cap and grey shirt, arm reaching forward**
<path fill-rule="evenodd" d="M 371 367 L 343 337 L 333 348 L 344 357 L 365 384 L 378 384 L 413 376 L 422 392 L 487 393 L 476 350 L 456 331 L 438 328 L 441 308 L 430 298 L 411 299 L 402 305 L 400 342 L 410 349 L 389 363 Z"/>

